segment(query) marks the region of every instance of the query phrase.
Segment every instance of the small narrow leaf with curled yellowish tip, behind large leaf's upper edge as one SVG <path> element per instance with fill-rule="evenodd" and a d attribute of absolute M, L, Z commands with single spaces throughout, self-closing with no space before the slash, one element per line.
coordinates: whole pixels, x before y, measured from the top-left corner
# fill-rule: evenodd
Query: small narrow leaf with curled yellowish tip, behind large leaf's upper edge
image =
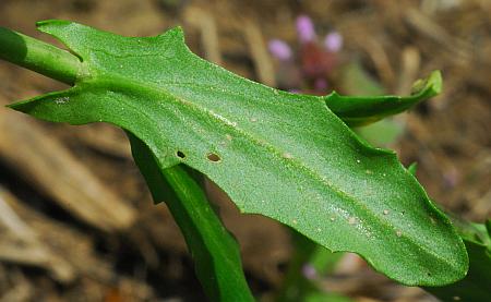
<path fill-rule="evenodd" d="M 324 97 L 327 107 L 350 126 L 359 126 L 400 113 L 416 104 L 438 95 L 442 75 L 433 71 L 426 80 L 418 80 L 410 96 L 340 96 L 336 92 Z"/>

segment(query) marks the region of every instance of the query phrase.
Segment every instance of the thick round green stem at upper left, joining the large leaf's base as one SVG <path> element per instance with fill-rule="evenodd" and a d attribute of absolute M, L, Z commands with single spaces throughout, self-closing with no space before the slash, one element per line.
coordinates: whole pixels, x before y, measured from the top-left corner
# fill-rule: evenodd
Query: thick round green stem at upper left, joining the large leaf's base
<path fill-rule="evenodd" d="M 0 59 L 69 85 L 82 65 L 69 51 L 4 27 L 0 27 Z"/>

